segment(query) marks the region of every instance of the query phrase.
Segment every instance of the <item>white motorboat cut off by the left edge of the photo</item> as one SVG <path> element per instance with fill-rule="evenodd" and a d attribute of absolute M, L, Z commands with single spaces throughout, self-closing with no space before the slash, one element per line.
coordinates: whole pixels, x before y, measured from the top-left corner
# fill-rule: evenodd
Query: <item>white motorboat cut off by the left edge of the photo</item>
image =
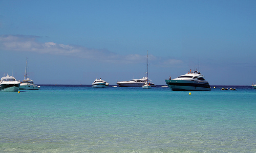
<path fill-rule="evenodd" d="M 19 81 L 16 81 L 14 77 L 10 77 L 8 74 L 5 77 L 1 78 L 0 81 L 0 91 L 6 91 L 6 92 L 11 92 L 11 91 L 18 91 L 19 88 Z"/>

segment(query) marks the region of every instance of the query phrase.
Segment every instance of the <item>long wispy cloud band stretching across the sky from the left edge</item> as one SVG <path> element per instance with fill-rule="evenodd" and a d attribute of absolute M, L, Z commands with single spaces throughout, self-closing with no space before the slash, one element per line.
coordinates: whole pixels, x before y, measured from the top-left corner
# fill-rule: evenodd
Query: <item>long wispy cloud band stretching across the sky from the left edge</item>
<path fill-rule="evenodd" d="M 139 63 L 145 61 L 145 55 L 129 54 L 119 55 L 108 49 L 87 48 L 79 45 L 65 45 L 54 42 L 39 42 L 38 36 L 28 35 L 1 35 L 0 49 L 16 52 L 35 52 L 39 54 L 52 54 L 61 56 L 73 56 L 84 59 L 99 60 L 110 63 Z M 150 55 L 152 61 L 162 64 L 180 64 L 181 60 L 165 59 Z M 164 60 L 165 59 L 165 60 Z"/>

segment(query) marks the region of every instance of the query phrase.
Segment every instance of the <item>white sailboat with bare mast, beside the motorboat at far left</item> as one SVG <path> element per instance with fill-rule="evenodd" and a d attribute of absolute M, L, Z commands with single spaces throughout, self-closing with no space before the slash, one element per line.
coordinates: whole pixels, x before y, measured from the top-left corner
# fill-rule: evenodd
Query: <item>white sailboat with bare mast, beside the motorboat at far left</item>
<path fill-rule="evenodd" d="M 33 80 L 27 78 L 27 71 L 28 71 L 28 58 L 26 62 L 26 69 L 24 74 L 24 80 L 20 83 L 19 90 L 38 90 L 40 86 L 37 86 L 33 83 Z"/>

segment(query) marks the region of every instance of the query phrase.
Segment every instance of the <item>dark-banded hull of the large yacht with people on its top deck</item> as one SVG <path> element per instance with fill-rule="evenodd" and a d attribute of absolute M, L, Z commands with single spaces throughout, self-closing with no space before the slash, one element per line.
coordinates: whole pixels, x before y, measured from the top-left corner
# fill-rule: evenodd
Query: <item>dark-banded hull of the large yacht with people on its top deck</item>
<path fill-rule="evenodd" d="M 208 91 L 211 90 L 208 82 L 188 80 L 165 80 L 165 83 L 173 91 Z"/>

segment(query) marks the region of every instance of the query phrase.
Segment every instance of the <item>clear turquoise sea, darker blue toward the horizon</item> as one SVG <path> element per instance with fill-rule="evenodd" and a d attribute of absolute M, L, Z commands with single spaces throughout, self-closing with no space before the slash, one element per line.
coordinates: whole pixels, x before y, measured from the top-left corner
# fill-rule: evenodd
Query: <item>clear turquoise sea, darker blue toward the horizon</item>
<path fill-rule="evenodd" d="M 0 92 L 0 152 L 256 152 L 251 86 L 40 86 Z"/>

